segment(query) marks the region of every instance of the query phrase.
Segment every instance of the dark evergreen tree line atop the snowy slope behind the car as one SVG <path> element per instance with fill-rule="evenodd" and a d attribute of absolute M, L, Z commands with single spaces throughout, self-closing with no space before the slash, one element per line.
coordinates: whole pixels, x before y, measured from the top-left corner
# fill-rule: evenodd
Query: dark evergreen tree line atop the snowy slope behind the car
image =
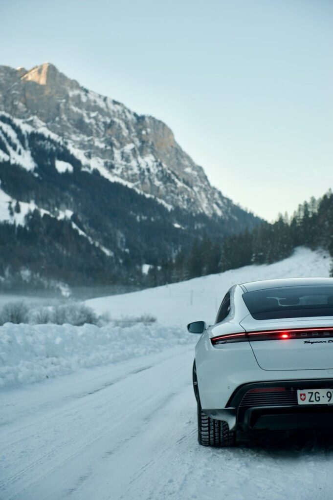
<path fill-rule="evenodd" d="M 262 222 L 250 230 L 214 240 L 196 238 L 160 269 L 151 268 L 150 285 L 181 281 L 223 272 L 249 264 L 269 264 L 291 255 L 296 246 L 324 248 L 333 257 L 333 194 L 311 198 L 289 218 L 279 215 L 273 223 Z M 333 271 L 333 269 L 332 269 Z"/>

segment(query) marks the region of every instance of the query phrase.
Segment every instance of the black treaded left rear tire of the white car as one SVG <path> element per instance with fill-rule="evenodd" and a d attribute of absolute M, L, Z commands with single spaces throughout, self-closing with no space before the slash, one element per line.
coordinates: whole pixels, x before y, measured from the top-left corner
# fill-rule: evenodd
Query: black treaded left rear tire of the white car
<path fill-rule="evenodd" d="M 224 420 L 206 415 L 198 401 L 198 441 L 202 446 L 235 446 L 236 432 Z"/>

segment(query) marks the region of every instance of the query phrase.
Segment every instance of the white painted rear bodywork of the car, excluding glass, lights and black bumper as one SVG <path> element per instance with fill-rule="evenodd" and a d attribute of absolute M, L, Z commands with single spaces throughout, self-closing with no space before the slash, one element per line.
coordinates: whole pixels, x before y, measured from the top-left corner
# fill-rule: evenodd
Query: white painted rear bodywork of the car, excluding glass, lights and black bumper
<path fill-rule="evenodd" d="M 322 278 L 318 279 L 322 281 Z M 272 280 L 267 282 L 267 286 L 263 282 L 263 288 L 268 288 L 273 281 L 278 281 L 275 286 L 284 286 L 287 280 Z M 307 282 L 300 281 L 302 286 Z M 332 285 L 333 278 L 326 278 L 325 284 Z M 245 340 L 213 345 L 212 337 L 227 333 L 333 327 L 333 316 L 256 320 L 242 298 L 246 288 L 235 285 L 229 291 L 231 308 L 227 318 L 209 326 L 195 347 L 198 392 L 203 411 L 206 409 L 207 414 L 212 416 L 214 413 L 210 410 L 219 410 L 220 416 L 213 417 L 225 419 L 230 428 L 233 428 L 235 412 L 234 408 L 228 406 L 228 401 L 243 384 L 316 378 L 332 379 L 333 384 L 333 338 L 330 342 L 323 342 L 323 338 L 318 338 L 319 342 L 316 343 L 315 338 L 304 336 L 297 339 Z M 312 343 L 304 343 L 306 339 Z M 228 411 L 232 417 L 228 417 Z"/>

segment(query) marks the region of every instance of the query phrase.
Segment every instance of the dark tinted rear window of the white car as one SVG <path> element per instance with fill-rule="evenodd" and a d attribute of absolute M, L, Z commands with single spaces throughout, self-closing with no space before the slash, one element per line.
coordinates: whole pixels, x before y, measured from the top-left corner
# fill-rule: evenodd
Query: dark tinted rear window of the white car
<path fill-rule="evenodd" d="M 267 288 L 243 299 L 254 319 L 333 316 L 333 285 Z"/>

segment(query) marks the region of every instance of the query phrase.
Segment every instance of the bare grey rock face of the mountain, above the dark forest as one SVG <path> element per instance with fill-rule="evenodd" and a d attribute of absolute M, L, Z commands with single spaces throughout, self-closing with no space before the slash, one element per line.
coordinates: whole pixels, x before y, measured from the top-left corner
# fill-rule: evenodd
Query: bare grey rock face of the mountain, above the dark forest
<path fill-rule="evenodd" d="M 53 64 L 29 71 L 0 66 L 0 109 L 67 139 L 88 168 L 172 207 L 232 216 L 232 202 L 210 185 L 165 123 L 84 88 Z"/>

